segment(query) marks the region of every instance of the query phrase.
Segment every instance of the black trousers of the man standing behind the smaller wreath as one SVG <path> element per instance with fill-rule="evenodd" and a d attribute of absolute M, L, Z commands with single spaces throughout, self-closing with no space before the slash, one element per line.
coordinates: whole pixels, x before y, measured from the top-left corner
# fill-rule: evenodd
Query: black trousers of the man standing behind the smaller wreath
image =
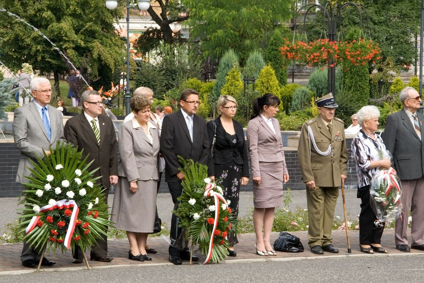
<path fill-rule="evenodd" d="M 168 182 L 169 192 L 171 193 L 172 202 L 174 203 L 174 210 L 178 209 L 179 201 L 177 198 L 183 193 L 183 186 L 181 182 Z M 179 218 L 172 213 L 171 217 L 171 231 L 169 238 L 171 245 L 169 246 L 169 254 L 171 256 L 181 256 L 181 251 L 187 250 L 186 235 L 182 228 L 178 227 Z"/>

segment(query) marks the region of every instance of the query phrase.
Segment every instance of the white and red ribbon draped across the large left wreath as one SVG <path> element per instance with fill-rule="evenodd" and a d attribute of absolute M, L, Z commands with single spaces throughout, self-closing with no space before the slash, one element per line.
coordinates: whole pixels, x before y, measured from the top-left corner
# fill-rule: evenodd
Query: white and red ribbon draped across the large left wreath
<path fill-rule="evenodd" d="M 52 211 L 54 209 L 64 209 L 64 208 L 72 208 L 72 207 L 74 209 L 72 210 L 71 219 L 69 220 L 69 225 L 68 225 L 68 231 L 66 232 L 65 240 L 63 242 L 63 245 L 68 250 L 71 248 L 72 235 L 74 234 L 75 224 L 77 222 L 78 213 L 80 212 L 80 208 L 78 207 L 75 200 L 72 200 L 72 199 L 69 201 L 66 201 L 66 199 L 58 200 L 56 201 L 55 204 L 53 205 L 48 204 L 46 206 L 43 206 L 42 208 L 40 208 L 40 211 L 38 211 L 38 213 L 42 213 L 46 211 Z M 28 227 L 26 227 L 25 229 L 25 234 L 28 234 L 35 228 L 35 226 L 37 225 L 37 221 L 39 219 L 40 219 L 40 215 L 32 217 Z"/>

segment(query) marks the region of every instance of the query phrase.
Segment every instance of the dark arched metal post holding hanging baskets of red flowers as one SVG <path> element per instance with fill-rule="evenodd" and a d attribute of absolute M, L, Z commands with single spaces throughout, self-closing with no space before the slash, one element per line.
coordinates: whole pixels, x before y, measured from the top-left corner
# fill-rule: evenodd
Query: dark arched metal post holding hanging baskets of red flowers
<path fill-rule="evenodd" d="M 328 22 L 328 39 L 329 41 L 335 41 L 336 40 L 336 31 L 337 31 L 337 20 L 340 20 L 340 12 L 341 9 L 343 9 L 345 6 L 354 6 L 356 7 L 356 9 L 359 12 L 359 19 L 360 19 L 360 26 L 362 28 L 362 11 L 361 9 L 365 12 L 366 15 L 366 20 L 367 20 L 367 28 L 368 28 L 368 12 L 365 9 L 365 7 L 361 4 L 358 3 L 352 3 L 352 2 L 347 2 L 344 4 L 334 4 L 333 7 L 331 7 L 331 4 L 329 2 L 327 2 L 325 4 L 325 6 L 322 6 L 320 4 L 306 4 L 304 6 L 302 6 L 301 8 L 299 8 L 299 10 L 296 12 L 296 17 L 295 17 L 295 31 L 296 31 L 296 21 L 298 18 L 298 14 L 300 11 L 305 10 L 306 12 L 304 14 L 305 18 L 304 18 L 304 25 L 306 24 L 306 19 L 308 16 L 308 12 L 313 8 L 320 8 L 323 12 L 324 12 L 324 20 L 325 18 L 327 19 Z M 340 25 L 340 24 L 339 24 Z M 336 67 L 334 66 L 334 59 L 332 54 L 329 54 L 329 58 L 328 58 L 328 80 L 327 80 L 327 92 L 328 93 L 332 93 L 333 96 L 335 96 L 335 69 Z"/>

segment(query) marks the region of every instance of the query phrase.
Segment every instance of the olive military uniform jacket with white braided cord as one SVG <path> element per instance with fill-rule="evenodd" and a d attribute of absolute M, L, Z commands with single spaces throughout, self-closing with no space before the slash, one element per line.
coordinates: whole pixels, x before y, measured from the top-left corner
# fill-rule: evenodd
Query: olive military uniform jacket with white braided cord
<path fill-rule="evenodd" d="M 320 151 L 332 145 L 331 152 L 322 156 L 315 149 L 308 133 L 311 126 L 314 139 Z M 344 137 L 344 124 L 338 118 L 331 121 L 332 136 L 320 116 L 306 122 L 302 127 L 299 140 L 298 158 L 304 183 L 315 181 L 316 186 L 341 186 L 341 174 L 347 175 L 347 146 Z"/>

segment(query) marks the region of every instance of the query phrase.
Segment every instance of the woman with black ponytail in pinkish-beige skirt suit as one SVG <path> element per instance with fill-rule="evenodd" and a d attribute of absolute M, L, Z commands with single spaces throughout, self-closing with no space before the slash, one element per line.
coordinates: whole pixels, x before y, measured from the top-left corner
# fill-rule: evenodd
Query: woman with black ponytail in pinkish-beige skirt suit
<path fill-rule="evenodd" d="M 255 99 L 252 117 L 247 125 L 253 176 L 255 248 L 260 256 L 277 255 L 270 243 L 271 230 L 275 207 L 283 204 L 283 183 L 289 180 L 280 124 L 273 118 L 279 104 L 280 99 L 270 93 Z"/>

